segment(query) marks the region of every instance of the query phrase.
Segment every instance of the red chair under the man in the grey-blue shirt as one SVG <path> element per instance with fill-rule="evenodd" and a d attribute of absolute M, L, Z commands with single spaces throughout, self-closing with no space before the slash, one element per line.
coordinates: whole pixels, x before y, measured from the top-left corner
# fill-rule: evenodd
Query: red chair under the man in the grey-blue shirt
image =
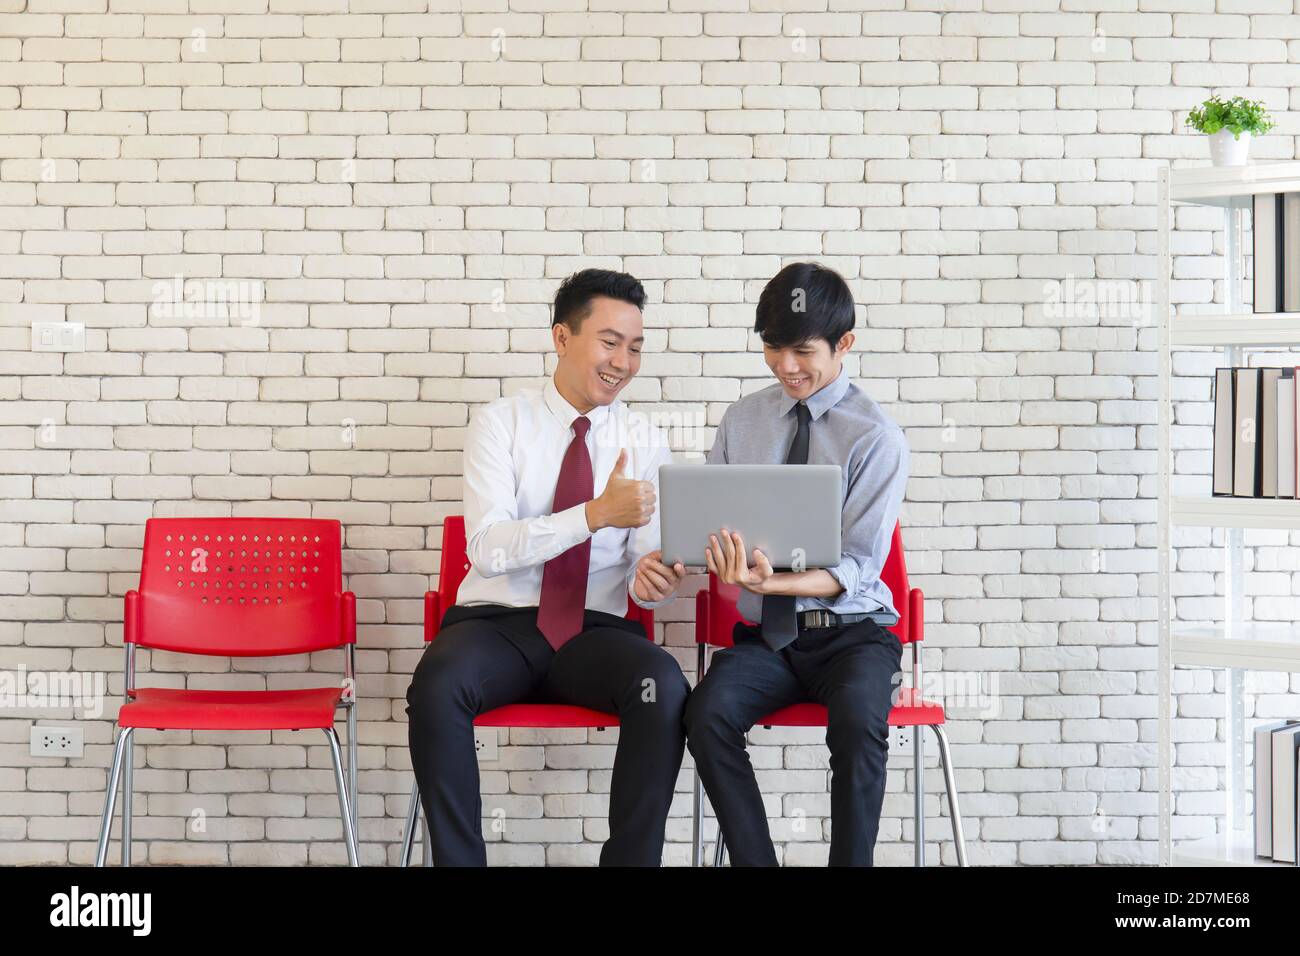
<path fill-rule="evenodd" d="M 930 727 L 939 739 L 939 757 L 944 767 L 944 784 L 948 788 L 948 805 L 953 818 L 953 838 L 957 844 L 957 862 L 966 866 L 966 842 L 962 836 L 962 817 L 957 805 L 957 782 L 953 778 L 952 760 L 948 752 L 948 737 L 944 734 L 944 705 L 923 700 L 920 696 L 922 670 L 920 670 L 920 641 L 924 639 L 924 597 L 920 588 L 907 587 L 907 567 L 904 563 L 902 532 L 894 524 L 893 542 L 889 548 L 889 557 L 881 568 L 880 580 L 889 585 L 893 594 L 893 605 L 898 610 L 898 623 L 890 627 L 902 644 L 911 644 L 911 687 L 898 688 L 898 702 L 889 711 L 890 727 L 915 727 L 913 735 L 913 761 L 916 777 L 915 793 L 915 851 L 914 864 L 924 866 L 926 862 L 926 831 L 924 831 L 924 740 L 920 728 Z M 740 588 L 734 584 L 723 584 L 712 574 L 708 575 L 708 588 L 701 589 L 696 594 L 696 643 L 698 645 L 697 674 L 703 678 L 706 654 L 708 645 L 715 648 L 729 648 L 732 645 L 732 628 L 741 618 L 736 606 Z M 745 622 L 751 623 L 751 622 Z M 774 710 L 758 723 L 763 727 L 826 727 L 827 711 L 820 704 L 793 704 L 780 710 Z M 694 853 L 696 866 L 703 865 L 703 797 L 705 788 L 699 780 L 699 771 L 696 771 L 696 812 L 694 812 Z M 718 843 L 714 848 L 714 866 L 720 866 L 727 857 L 727 844 L 723 840 L 722 830 L 718 831 Z"/>

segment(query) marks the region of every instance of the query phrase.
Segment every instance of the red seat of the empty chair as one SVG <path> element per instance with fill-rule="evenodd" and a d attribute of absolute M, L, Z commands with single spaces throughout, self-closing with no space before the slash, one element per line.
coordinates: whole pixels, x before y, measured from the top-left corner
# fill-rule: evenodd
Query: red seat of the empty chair
<path fill-rule="evenodd" d="M 342 687 L 287 691 L 186 691 L 140 687 L 118 711 L 122 727 L 146 730 L 325 730 Z"/>

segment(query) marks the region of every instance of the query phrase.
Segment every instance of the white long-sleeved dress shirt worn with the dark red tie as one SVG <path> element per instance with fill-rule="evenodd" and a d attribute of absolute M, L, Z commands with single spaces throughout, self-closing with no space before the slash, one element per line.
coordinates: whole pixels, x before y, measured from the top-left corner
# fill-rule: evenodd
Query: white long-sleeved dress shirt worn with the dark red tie
<path fill-rule="evenodd" d="M 650 481 L 655 489 L 655 514 L 644 528 L 601 528 L 593 535 L 585 505 L 551 514 L 577 416 L 551 380 L 542 389 L 498 398 L 471 418 L 464 453 L 469 571 L 456 604 L 536 607 L 546 562 L 589 537 L 588 609 L 621 618 L 629 594 L 642 607 L 673 600 L 670 594 L 642 602 L 632 593 L 637 561 L 659 548 L 659 466 L 672 462 L 663 432 L 618 399 L 586 414 L 595 497 L 604 490 L 620 449 L 628 451 L 624 475 Z"/>

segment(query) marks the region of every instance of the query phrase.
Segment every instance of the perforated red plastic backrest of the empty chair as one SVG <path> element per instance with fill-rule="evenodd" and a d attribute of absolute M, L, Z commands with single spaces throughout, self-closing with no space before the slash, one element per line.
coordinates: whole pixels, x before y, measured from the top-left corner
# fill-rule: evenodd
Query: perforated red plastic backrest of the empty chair
<path fill-rule="evenodd" d="M 151 518 L 124 636 L 186 654 L 325 650 L 352 640 L 342 588 L 337 520 Z"/>

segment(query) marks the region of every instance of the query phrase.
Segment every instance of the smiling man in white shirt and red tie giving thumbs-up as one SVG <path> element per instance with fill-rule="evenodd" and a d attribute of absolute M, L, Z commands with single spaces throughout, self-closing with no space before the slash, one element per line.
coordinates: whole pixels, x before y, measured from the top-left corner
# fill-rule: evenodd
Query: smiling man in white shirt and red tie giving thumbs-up
<path fill-rule="evenodd" d="M 690 688 L 625 618 L 629 596 L 658 607 L 685 574 L 659 551 L 667 441 L 618 398 L 641 367 L 644 304 L 625 273 L 569 276 L 552 312 L 554 377 L 471 419 L 471 568 L 407 692 L 434 865 L 486 864 L 473 719 L 525 700 L 619 715 L 601 864 L 660 862 Z"/>

